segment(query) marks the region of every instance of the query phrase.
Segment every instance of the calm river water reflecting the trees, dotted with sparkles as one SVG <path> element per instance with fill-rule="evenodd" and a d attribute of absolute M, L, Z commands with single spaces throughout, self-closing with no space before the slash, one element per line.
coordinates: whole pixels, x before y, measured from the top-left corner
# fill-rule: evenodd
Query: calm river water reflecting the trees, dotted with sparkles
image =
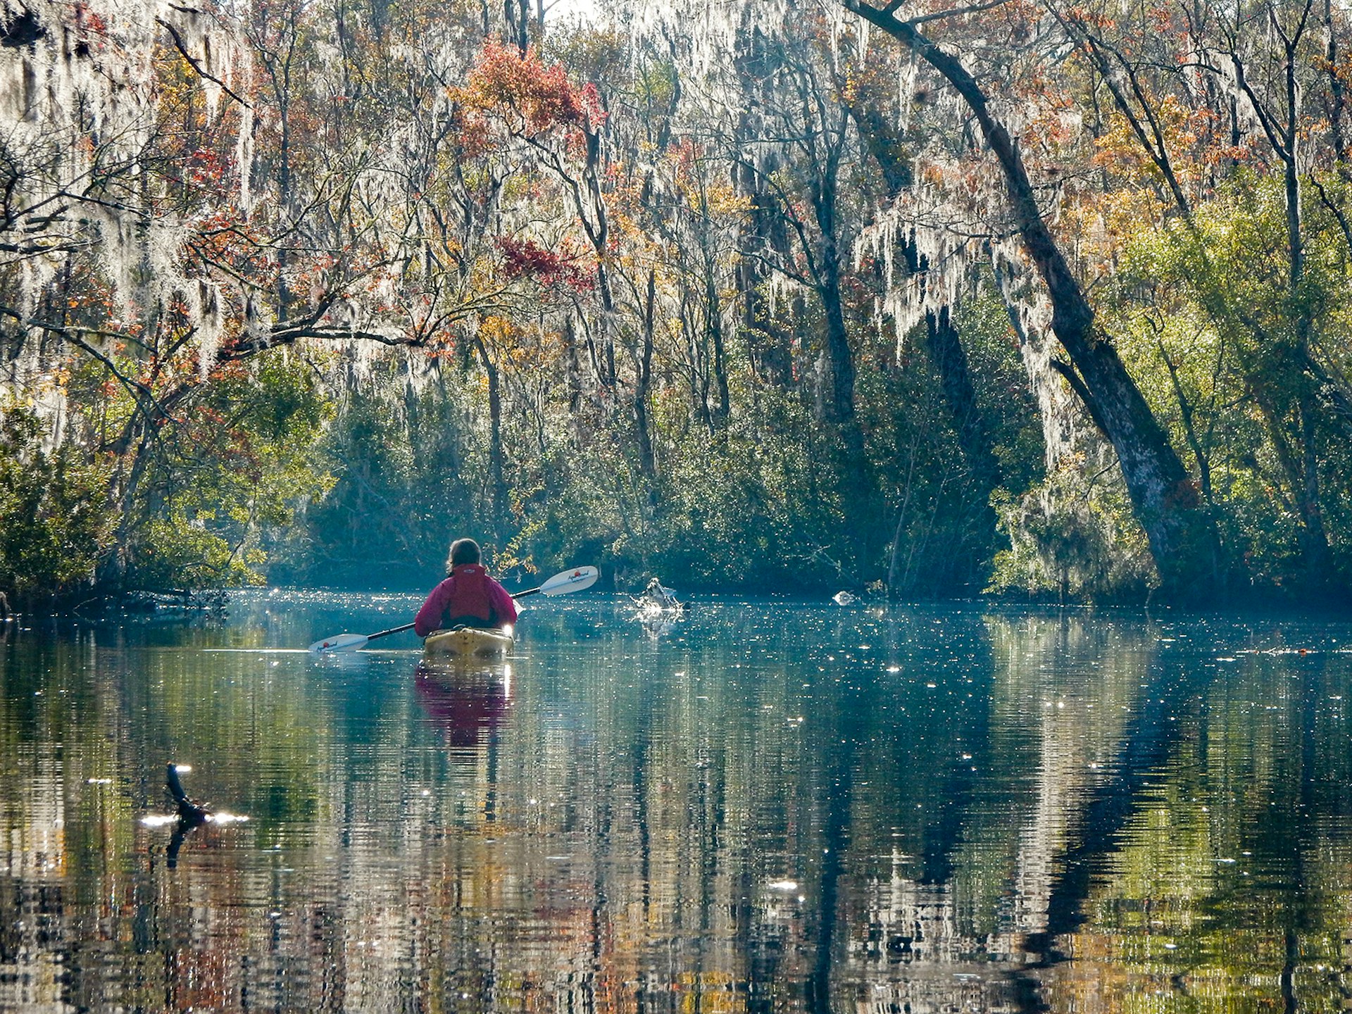
<path fill-rule="evenodd" d="M 1352 623 L 416 606 L 0 627 L 0 1009 L 1352 1009 Z"/>

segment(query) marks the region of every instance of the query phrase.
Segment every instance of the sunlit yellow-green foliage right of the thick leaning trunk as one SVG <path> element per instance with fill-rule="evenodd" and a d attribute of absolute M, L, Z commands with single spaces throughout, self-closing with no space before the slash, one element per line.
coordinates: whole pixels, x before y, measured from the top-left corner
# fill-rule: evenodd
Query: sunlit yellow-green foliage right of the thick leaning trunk
<path fill-rule="evenodd" d="M 1347 385 L 1352 287 L 1345 237 L 1329 211 L 1343 185 L 1322 185 L 1325 199 L 1307 195 L 1299 284 L 1280 180 L 1238 173 L 1191 226 L 1134 237 L 1110 301 L 1124 356 L 1184 449 L 1225 545 L 1268 589 L 1310 580 L 1311 506 L 1344 580 L 1352 568 L 1352 516 L 1340 492 L 1352 430 L 1336 402 Z M 1313 500 L 1310 468 L 1321 487 Z"/>

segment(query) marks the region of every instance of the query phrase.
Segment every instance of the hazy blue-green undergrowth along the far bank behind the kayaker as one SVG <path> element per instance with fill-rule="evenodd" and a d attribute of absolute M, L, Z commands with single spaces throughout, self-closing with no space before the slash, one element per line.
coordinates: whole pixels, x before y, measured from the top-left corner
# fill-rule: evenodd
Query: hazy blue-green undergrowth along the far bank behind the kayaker
<path fill-rule="evenodd" d="M 1003 307 L 987 293 L 961 326 L 1002 468 L 1025 484 L 1040 473 L 1041 437 Z M 498 541 L 477 364 L 442 360 L 416 387 L 403 366 L 377 366 L 324 437 L 333 491 L 307 507 L 304 535 L 269 577 L 425 587 L 448 541 L 472 534 L 507 576 L 591 562 L 622 588 L 656 573 L 685 591 L 821 594 L 887 579 L 900 595 L 979 589 L 995 553 L 994 518 L 969 462 L 953 453 L 940 381 L 917 341 L 900 362 L 890 343 L 869 343 L 861 361 L 869 487 L 852 495 L 877 508 L 856 503 L 853 525 L 842 443 L 814 418 L 803 388 L 738 369 L 731 415 L 711 427 L 680 387 L 661 387 L 649 406 L 649 479 L 631 415 L 585 400 L 569 411 L 518 350 L 522 364 L 508 357 L 502 369 L 518 411 L 503 419 L 511 502 Z"/>

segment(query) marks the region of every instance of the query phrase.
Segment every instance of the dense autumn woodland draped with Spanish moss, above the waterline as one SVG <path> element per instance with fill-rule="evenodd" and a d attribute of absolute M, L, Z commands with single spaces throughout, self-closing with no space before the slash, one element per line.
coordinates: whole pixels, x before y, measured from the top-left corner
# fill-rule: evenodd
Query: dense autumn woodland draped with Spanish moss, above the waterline
<path fill-rule="evenodd" d="M 1345 600 L 1325 0 L 0 0 L 0 592 Z"/>

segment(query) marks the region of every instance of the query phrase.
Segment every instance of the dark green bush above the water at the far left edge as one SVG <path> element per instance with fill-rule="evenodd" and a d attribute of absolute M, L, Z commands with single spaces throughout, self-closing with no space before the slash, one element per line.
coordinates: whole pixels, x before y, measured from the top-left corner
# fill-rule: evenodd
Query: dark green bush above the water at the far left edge
<path fill-rule="evenodd" d="M 43 448 L 31 406 L 0 406 L 0 592 L 11 604 L 88 589 L 107 554 L 110 462 L 64 443 Z"/>

